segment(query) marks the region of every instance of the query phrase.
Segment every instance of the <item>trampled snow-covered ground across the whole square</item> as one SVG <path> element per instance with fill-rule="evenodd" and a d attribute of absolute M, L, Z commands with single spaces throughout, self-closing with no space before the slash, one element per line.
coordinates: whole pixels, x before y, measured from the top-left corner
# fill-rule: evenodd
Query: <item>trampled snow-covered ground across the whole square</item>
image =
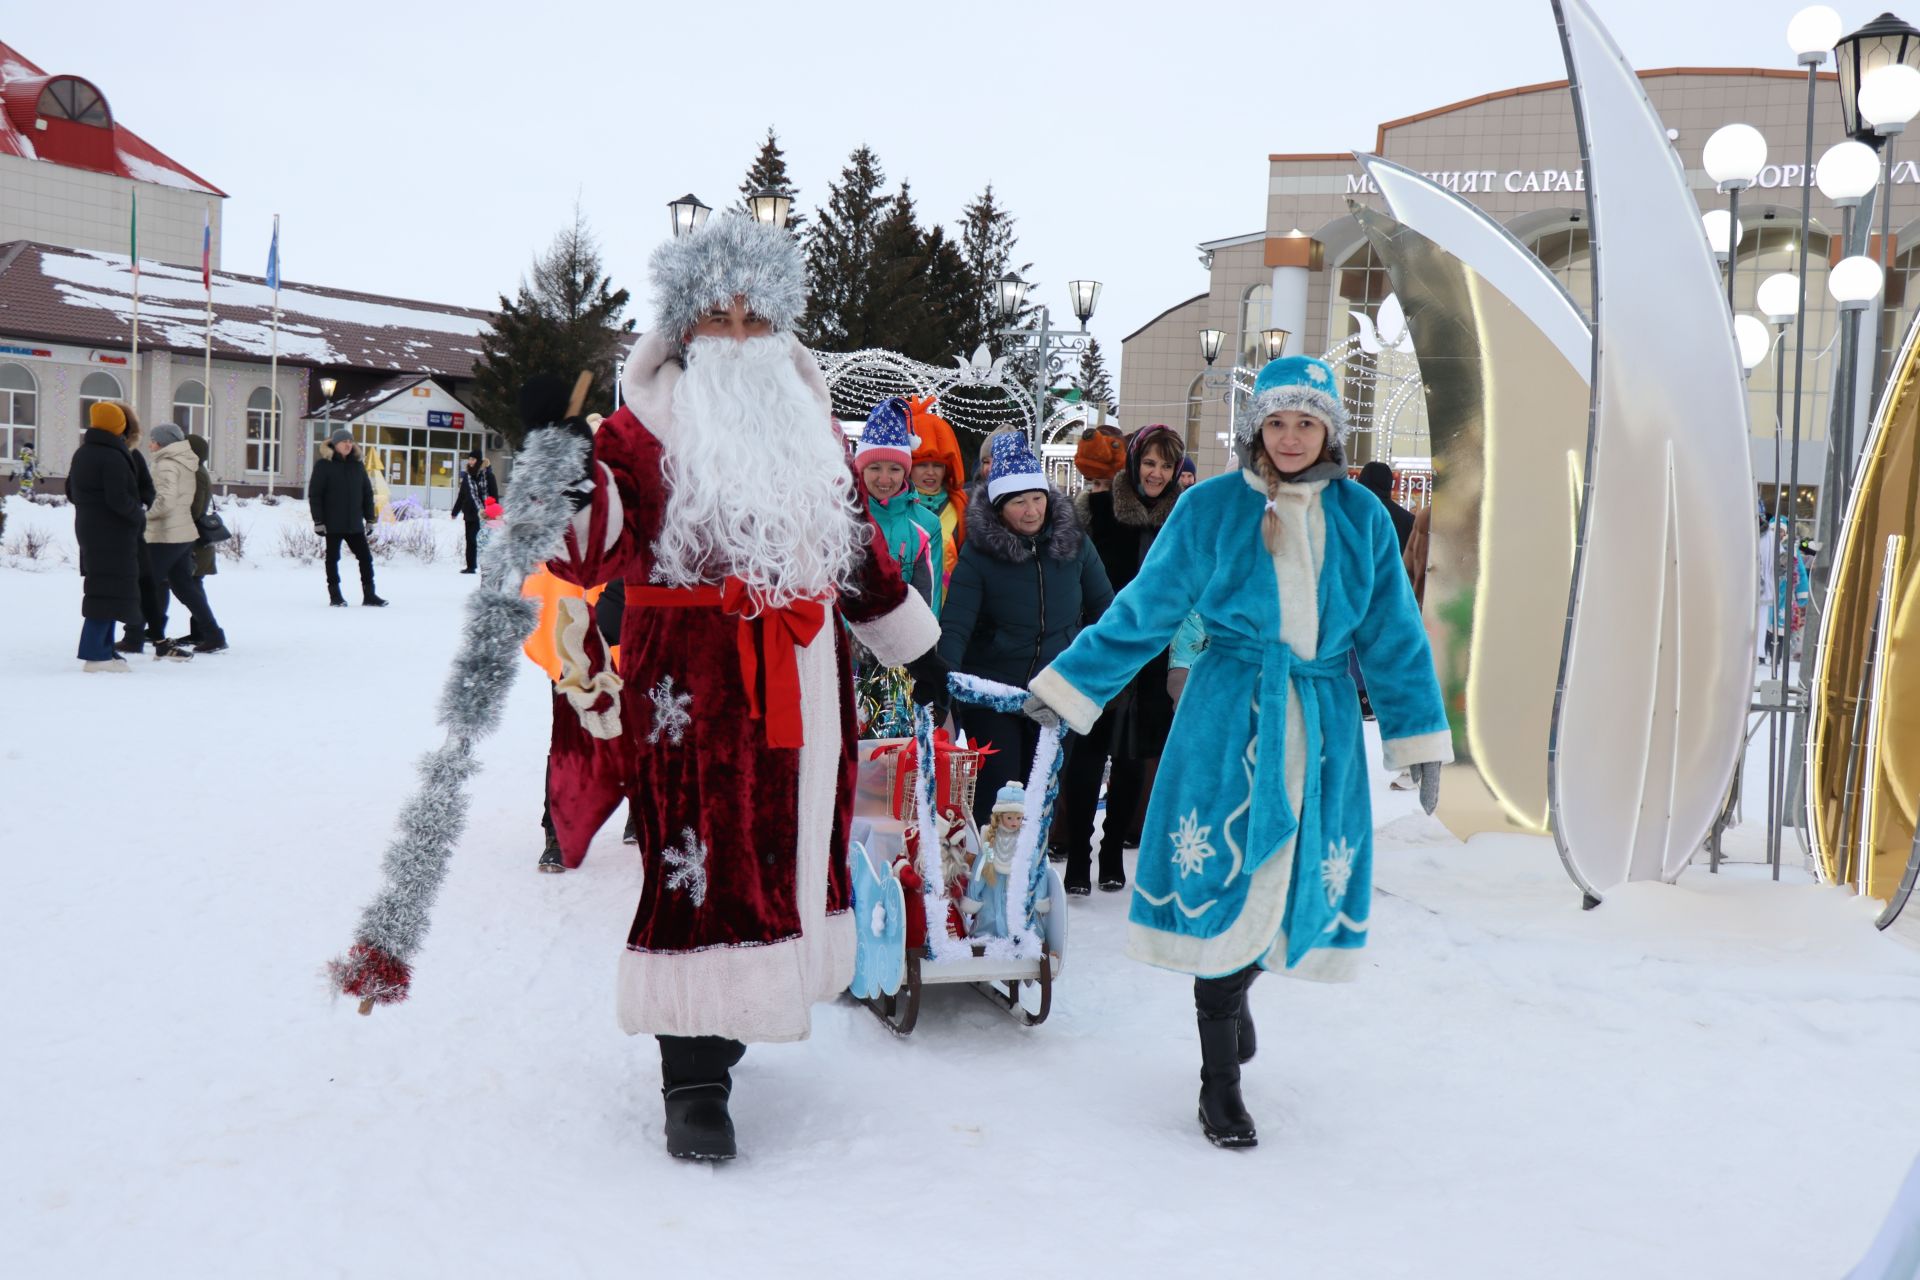
<path fill-rule="evenodd" d="M 10 512 L 6 543 L 71 545 L 71 512 Z M 1200 1138 L 1188 984 L 1094 894 L 1044 1027 L 956 988 L 908 1040 L 824 1006 L 747 1054 L 743 1159 L 678 1165 L 612 1023 L 636 856 L 611 827 L 534 873 L 538 677 L 415 998 L 328 998 L 472 580 L 396 560 L 392 608 L 328 610 L 271 549 L 298 507 L 236 520 L 232 652 L 131 676 L 73 660 L 69 564 L 0 566 L 8 1276 L 1805 1280 L 1920 1150 L 1920 954 L 1797 856 L 1580 912 L 1548 841 L 1461 846 L 1382 775 L 1363 979 L 1254 988 L 1256 1151 Z"/>

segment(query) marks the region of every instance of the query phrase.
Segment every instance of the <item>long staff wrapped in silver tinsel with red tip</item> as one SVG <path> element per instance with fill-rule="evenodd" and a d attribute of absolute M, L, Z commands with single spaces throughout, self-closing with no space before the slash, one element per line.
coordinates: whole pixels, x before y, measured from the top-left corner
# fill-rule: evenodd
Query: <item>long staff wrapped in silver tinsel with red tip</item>
<path fill-rule="evenodd" d="M 589 374 L 580 374 L 566 418 L 580 416 Z M 532 390 L 532 388 L 530 388 Z M 555 391 L 563 390 L 555 384 Z M 559 395 L 551 395 L 557 407 Z M 522 393 L 522 413 L 526 413 Z M 543 413 L 534 422 L 551 422 Z M 447 877 L 447 858 L 467 825 L 467 779 L 478 771 L 474 743 L 497 727 L 497 708 L 520 670 L 520 645 L 540 620 L 520 595 L 534 566 L 561 553 L 574 514 L 574 489 L 588 472 L 584 428 L 540 428 L 513 461 L 505 530 L 482 557 L 480 585 L 467 599 L 461 647 L 440 693 L 445 741 L 420 756 L 419 787 L 399 810 L 380 867 L 384 885 L 361 912 L 348 954 L 328 961 L 334 990 L 359 996 L 359 1011 L 399 1004 L 413 981 L 413 958 L 426 938 L 428 913 Z"/>

